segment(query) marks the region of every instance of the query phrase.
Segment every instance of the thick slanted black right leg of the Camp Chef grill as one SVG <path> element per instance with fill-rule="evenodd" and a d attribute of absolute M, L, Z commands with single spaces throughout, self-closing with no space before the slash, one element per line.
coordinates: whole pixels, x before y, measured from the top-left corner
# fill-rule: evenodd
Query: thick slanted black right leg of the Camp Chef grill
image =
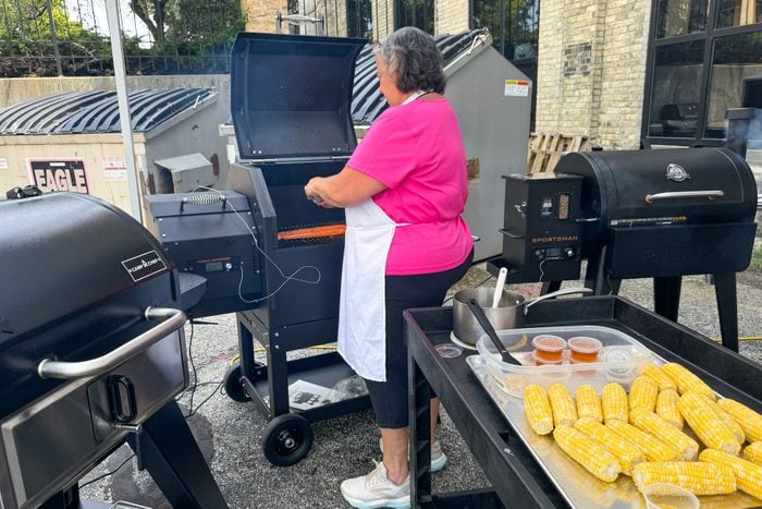
<path fill-rule="evenodd" d="M 180 407 L 170 401 L 143 425 L 139 451 L 134 435 L 130 447 L 143 462 L 172 507 L 226 508 Z"/>

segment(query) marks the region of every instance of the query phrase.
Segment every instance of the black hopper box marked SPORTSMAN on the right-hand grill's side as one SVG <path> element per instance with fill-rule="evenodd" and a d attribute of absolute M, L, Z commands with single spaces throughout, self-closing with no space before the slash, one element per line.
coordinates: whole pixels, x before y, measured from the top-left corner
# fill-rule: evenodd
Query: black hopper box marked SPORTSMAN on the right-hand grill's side
<path fill-rule="evenodd" d="M 503 256 L 508 282 L 579 277 L 582 178 L 560 173 L 505 177 Z"/>

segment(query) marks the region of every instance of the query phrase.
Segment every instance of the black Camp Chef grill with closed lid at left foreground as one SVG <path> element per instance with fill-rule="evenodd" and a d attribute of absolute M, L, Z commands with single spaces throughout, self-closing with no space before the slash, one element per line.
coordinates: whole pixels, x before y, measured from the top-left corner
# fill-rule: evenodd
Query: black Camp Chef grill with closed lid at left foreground
<path fill-rule="evenodd" d="M 0 202 L 0 507 L 79 507 L 128 441 L 174 507 L 225 507 L 174 397 L 187 385 L 176 274 L 89 195 Z"/>

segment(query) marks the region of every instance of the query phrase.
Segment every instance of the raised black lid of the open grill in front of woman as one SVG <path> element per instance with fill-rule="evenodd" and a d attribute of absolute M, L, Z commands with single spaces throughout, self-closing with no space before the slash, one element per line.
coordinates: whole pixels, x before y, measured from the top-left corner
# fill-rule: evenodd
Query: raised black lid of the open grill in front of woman
<path fill-rule="evenodd" d="M 231 109 L 243 160 L 346 158 L 355 60 L 367 41 L 239 33 L 231 53 Z"/>

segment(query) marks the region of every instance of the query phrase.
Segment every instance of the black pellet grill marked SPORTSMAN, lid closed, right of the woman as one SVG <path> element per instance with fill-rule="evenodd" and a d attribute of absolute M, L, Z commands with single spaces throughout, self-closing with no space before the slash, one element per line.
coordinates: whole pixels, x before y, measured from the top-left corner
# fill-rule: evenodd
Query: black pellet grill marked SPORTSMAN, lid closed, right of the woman
<path fill-rule="evenodd" d="M 503 255 L 508 282 L 552 291 L 576 279 L 616 293 L 654 278 L 656 313 L 677 319 L 684 275 L 713 275 L 723 343 L 737 344 L 736 272 L 751 259 L 757 184 L 726 148 L 570 153 L 555 173 L 508 175 Z"/>

